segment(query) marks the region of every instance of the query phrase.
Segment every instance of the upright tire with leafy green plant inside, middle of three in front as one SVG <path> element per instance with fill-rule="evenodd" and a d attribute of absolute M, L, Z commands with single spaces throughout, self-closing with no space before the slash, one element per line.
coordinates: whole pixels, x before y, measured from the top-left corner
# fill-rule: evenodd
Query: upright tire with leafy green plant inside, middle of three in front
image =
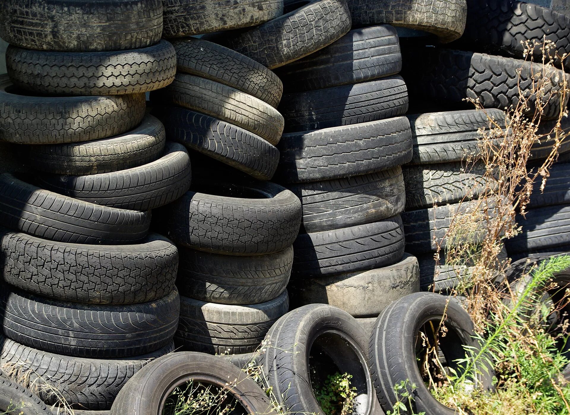
<path fill-rule="evenodd" d="M 367 337 L 345 311 L 324 304 L 292 310 L 271 327 L 266 343 L 259 362 L 285 412 L 323 413 L 316 391 L 327 374 L 338 372 L 352 375 L 358 413 L 382 414 L 368 369 Z"/>

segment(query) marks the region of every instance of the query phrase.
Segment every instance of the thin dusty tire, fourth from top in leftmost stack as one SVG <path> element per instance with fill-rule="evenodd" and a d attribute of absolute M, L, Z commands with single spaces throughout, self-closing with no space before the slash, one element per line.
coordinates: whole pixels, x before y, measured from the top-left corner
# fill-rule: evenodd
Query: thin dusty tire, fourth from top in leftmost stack
<path fill-rule="evenodd" d="M 164 151 L 164 125 L 151 115 L 127 133 L 94 141 L 28 147 L 35 170 L 85 175 L 131 169 L 150 163 Z"/>

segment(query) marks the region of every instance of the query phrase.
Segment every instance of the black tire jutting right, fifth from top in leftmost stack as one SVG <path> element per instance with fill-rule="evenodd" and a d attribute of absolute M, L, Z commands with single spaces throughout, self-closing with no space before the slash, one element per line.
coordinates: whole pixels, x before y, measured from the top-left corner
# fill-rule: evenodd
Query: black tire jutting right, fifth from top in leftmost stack
<path fill-rule="evenodd" d="M 152 163 L 87 176 L 44 175 L 38 182 L 48 190 L 102 206 L 148 211 L 180 198 L 190 187 L 188 151 L 169 142 Z"/>

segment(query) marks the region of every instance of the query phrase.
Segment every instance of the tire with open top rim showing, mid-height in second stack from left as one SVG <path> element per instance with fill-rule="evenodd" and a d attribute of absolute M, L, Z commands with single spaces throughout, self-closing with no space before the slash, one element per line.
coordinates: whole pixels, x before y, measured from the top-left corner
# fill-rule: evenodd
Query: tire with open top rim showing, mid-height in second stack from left
<path fill-rule="evenodd" d="M 270 254 L 290 246 L 299 232 L 301 202 L 270 182 L 210 183 L 157 212 L 170 239 L 189 248 L 229 255 Z"/>

